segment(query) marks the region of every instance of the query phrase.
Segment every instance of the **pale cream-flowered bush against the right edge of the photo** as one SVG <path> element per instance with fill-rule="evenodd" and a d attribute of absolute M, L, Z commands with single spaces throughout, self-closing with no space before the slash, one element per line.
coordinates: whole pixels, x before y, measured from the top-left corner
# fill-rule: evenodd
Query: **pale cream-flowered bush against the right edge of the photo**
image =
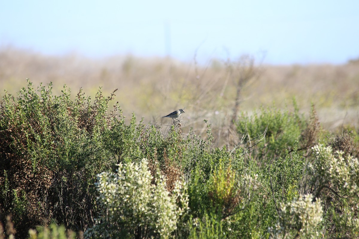
<path fill-rule="evenodd" d="M 342 151 L 332 152 L 331 147 L 313 147 L 315 159 L 308 163 L 307 172 L 313 193 L 321 197 L 327 208 L 326 234 L 359 236 L 358 189 L 359 161 Z M 336 225 L 332 230 L 332 225 Z"/>

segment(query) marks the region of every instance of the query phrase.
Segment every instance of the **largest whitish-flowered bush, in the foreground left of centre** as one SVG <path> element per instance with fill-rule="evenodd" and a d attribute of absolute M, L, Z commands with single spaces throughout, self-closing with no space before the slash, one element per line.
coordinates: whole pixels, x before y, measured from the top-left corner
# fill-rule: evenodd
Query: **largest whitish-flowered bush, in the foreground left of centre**
<path fill-rule="evenodd" d="M 181 216 L 187 213 L 187 185 L 177 181 L 172 192 L 166 178 L 157 171 L 155 178 L 148 161 L 118 164 L 117 173 L 97 176 L 101 218 L 85 231 L 85 238 L 171 237 Z M 154 179 L 154 184 L 152 183 Z"/>

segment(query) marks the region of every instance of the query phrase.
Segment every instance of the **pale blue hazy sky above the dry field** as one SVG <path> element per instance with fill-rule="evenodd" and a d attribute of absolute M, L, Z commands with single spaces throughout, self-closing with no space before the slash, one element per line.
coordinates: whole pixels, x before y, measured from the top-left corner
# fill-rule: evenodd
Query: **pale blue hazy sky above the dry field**
<path fill-rule="evenodd" d="M 45 54 L 205 62 L 265 51 L 265 63 L 359 57 L 358 0 L 0 0 L 0 46 Z"/>

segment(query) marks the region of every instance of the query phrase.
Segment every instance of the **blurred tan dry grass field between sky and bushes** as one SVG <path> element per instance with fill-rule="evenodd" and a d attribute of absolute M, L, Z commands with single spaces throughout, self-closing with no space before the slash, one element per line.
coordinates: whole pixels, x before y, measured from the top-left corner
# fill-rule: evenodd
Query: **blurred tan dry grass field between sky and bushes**
<path fill-rule="evenodd" d="M 207 119 L 218 138 L 227 130 L 237 106 L 248 115 L 260 106 L 292 107 L 295 97 L 301 112 L 313 103 L 322 126 L 331 131 L 359 124 L 359 62 L 343 65 L 263 65 L 243 56 L 199 65 L 170 58 L 112 56 L 90 59 L 77 54 L 46 56 L 15 48 L 0 49 L 0 89 L 16 94 L 26 78 L 37 87 L 53 82 L 53 92 L 63 85 L 75 97 L 79 88 L 92 99 L 102 87 L 104 95 L 114 89 L 115 100 L 130 118 L 170 124 L 160 118 L 186 107 L 185 127 L 204 134 Z M 236 104 L 237 102 L 237 104 Z M 186 123 L 184 123 L 186 122 Z M 218 139 L 217 139 L 218 140 Z"/>

